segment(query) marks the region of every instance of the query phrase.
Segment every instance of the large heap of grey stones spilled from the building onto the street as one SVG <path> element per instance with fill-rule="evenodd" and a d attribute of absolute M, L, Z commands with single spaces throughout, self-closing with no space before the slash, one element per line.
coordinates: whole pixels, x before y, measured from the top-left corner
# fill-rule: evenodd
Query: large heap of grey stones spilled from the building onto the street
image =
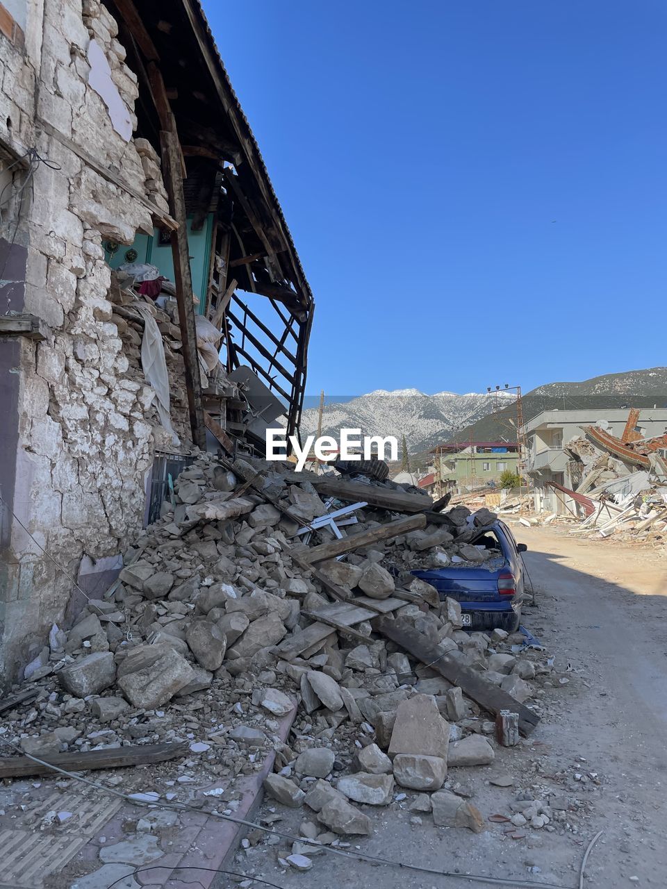
<path fill-rule="evenodd" d="M 89 601 L 67 632 L 52 628 L 20 686 L 36 699 L 5 713 L 4 738 L 33 756 L 189 741 L 197 768 L 229 781 L 259 768 L 272 748 L 277 772 L 266 791 L 311 813 L 294 854 L 308 854 L 308 839 L 369 834 L 358 805 L 389 805 L 406 792 L 438 825 L 482 829 L 448 770 L 494 762 L 493 717 L 383 637 L 376 620 L 386 608 L 438 657 L 472 669 L 517 708 L 529 701 L 539 716 L 544 688 L 562 681 L 553 661 L 521 633 L 462 631 L 460 605 L 440 602 L 409 573 L 424 562 L 482 564 L 489 551 L 471 541 L 494 514 L 458 506 L 438 524 L 315 569 L 304 561 L 309 549 L 335 537 L 321 526 L 308 547 L 296 542 L 300 522 L 308 528 L 327 512 L 308 479 L 288 463 L 199 453 L 162 517 L 126 552 L 109 595 Z M 370 507 L 355 516 L 350 542 L 396 520 Z M 360 618 L 331 617 L 332 589 L 346 597 L 337 606 Z M 278 725 L 295 706 L 283 743 Z M 534 828 L 549 825 L 543 806 L 534 814 Z"/>

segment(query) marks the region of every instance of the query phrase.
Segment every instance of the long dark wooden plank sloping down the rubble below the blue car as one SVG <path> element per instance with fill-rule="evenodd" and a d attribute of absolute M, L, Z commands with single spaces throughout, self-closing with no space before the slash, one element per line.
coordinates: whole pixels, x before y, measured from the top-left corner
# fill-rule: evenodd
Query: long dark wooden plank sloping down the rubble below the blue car
<path fill-rule="evenodd" d="M 487 682 L 477 670 L 464 667 L 448 654 L 441 655 L 438 646 L 430 645 L 423 633 L 405 621 L 393 621 L 385 617 L 375 622 L 375 629 L 399 645 L 406 653 L 422 661 L 422 664 L 436 670 L 448 682 L 458 685 L 464 694 L 477 701 L 480 707 L 488 710 L 494 717 L 501 710 L 518 713 L 518 729 L 521 734 L 530 734 L 539 724 L 540 717 L 536 713 L 524 704 L 520 704 L 507 692 L 503 692 L 497 685 Z"/>

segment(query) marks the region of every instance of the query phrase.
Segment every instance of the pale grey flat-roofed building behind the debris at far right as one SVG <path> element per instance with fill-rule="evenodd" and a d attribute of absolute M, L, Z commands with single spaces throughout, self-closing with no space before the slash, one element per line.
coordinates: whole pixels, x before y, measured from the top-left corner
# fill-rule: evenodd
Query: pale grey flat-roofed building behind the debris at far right
<path fill-rule="evenodd" d="M 616 438 L 623 436 L 628 421 L 627 408 L 598 408 L 578 411 L 542 411 L 529 420 L 523 430 L 527 441 L 526 474 L 534 492 L 538 512 L 565 513 L 562 497 L 550 482 L 574 490 L 572 469 L 575 460 L 567 451 L 573 438 L 583 436 L 583 427 L 606 428 Z M 667 408 L 643 408 L 634 430 L 641 438 L 662 436 L 667 429 Z"/>

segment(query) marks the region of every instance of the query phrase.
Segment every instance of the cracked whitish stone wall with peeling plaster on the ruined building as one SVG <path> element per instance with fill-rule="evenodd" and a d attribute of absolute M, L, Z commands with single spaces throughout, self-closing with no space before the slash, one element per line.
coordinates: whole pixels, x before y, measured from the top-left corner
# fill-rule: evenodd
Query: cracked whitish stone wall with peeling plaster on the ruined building
<path fill-rule="evenodd" d="M 30 646 L 63 619 L 73 590 L 40 547 L 71 577 L 82 558 L 95 565 L 117 554 L 141 527 L 154 447 L 171 446 L 156 428 L 152 388 L 128 374 L 101 246 L 103 237 L 132 244 L 153 222 L 145 204 L 76 151 L 166 205 L 155 165 L 145 169 L 134 144 L 137 78 L 116 22 L 97 0 L 30 0 L 25 49 L 0 40 L 8 109 L 0 135 L 44 159 L 13 243 L 12 231 L 0 231 L 0 256 L 3 247 L 25 252 L 25 280 L 0 312 L 29 312 L 51 330 L 37 344 L 0 342 L 11 355 L 0 362 L 8 399 L 0 407 L 16 440 L 2 493 L 38 544 L 4 509 L 1 681 L 15 678 Z"/>

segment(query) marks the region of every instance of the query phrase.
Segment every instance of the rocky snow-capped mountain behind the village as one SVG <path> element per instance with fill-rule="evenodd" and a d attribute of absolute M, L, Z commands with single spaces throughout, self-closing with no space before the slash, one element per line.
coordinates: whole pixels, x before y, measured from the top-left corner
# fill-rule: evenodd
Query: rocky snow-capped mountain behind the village
<path fill-rule="evenodd" d="M 451 438 L 457 429 L 470 426 L 489 413 L 515 400 L 510 392 L 480 394 L 437 392 L 425 395 L 419 389 L 375 389 L 351 401 L 325 404 L 322 435 L 338 439 L 342 428 L 360 428 L 365 436 L 406 436 L 410 453 L 435 447 Z M 318 409 L 309 408 L 301 417 L 301 436 L 317 433 Z"/>

